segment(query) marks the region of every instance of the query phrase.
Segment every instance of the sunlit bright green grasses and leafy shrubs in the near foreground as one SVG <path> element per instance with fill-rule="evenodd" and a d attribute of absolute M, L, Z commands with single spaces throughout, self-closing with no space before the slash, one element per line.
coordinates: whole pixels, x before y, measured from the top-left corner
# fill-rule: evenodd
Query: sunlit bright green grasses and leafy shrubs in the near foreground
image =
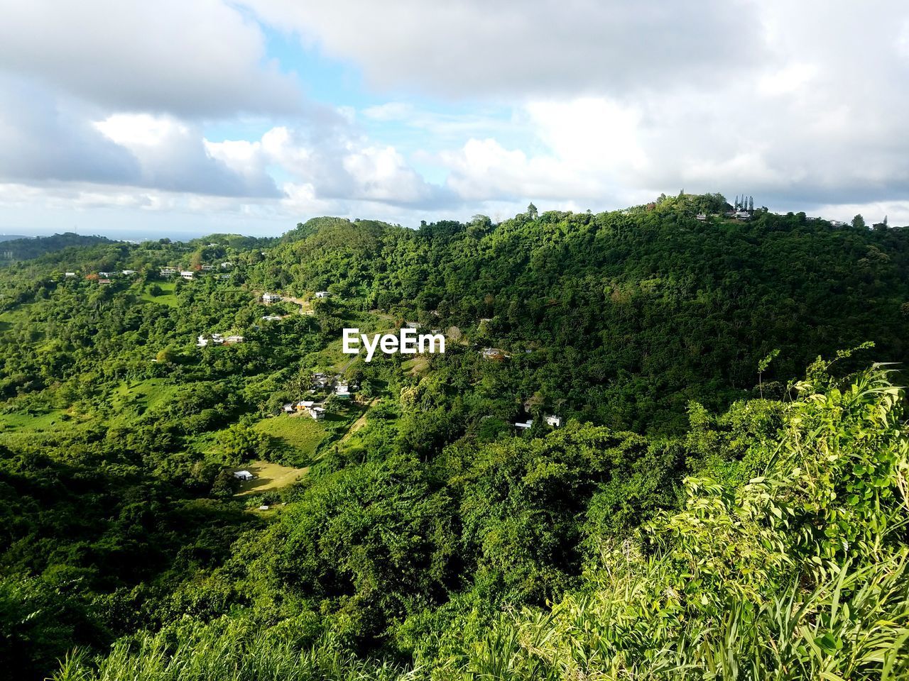
<path fill-rule="evenodd" d="M 412 664 L 355 656 L 315 619 L 191 621 L 115 645 L 74 679 L 903 678 L 909 674 L 909 433 L 882 368 L 796 386 L 748 443 L 761 475 L 685 480 L 682 508 L 600 537 L 552 607 L 454 600 L 406 621 Z M 420 621 L 417 621 L 420 620 Z"/>

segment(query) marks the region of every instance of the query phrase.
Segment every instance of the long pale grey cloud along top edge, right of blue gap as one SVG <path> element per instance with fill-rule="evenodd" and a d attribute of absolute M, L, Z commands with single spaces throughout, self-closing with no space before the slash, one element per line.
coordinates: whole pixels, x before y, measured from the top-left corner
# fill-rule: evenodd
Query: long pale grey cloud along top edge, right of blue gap
<path fill-rule="evenodd" d="M 673 0 L 245 5 L 353 62 L 378 89 L 442 97 L 619 94 L 671 86 L 683 71 L 688 82 L 709 84 L 762 54 L 760 41 L 743 39 L 758 6 L 726 0 L 681 12 Z"/>

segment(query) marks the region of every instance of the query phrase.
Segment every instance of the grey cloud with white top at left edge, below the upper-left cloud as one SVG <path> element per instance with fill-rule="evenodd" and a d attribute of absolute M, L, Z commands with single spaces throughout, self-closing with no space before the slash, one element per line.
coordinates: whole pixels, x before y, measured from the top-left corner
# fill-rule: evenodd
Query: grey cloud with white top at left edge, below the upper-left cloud
<path fill-rule="evenodd" d="M 167 115 L 103 115 L 41 85 L 0 76 L 0 180 L 281 195 L 267 173 L 235 173 L 208 153 L 192 124 Z"/>

